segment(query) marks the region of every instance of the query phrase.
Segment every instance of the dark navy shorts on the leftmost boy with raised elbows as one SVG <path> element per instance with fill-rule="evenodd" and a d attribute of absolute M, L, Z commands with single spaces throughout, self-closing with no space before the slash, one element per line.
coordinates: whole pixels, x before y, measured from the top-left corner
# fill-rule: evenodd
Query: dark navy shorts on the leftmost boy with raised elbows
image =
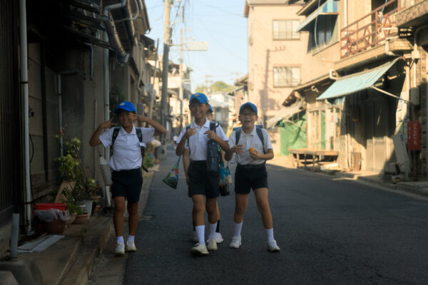
<path fill-rule="evenodd" d="M 111 173 L 111 197 L 125 197 L 128 203 L 133 204 L 140 200 L 143 174 L 141 168 L 134 170 L 120 170 Z"/>

